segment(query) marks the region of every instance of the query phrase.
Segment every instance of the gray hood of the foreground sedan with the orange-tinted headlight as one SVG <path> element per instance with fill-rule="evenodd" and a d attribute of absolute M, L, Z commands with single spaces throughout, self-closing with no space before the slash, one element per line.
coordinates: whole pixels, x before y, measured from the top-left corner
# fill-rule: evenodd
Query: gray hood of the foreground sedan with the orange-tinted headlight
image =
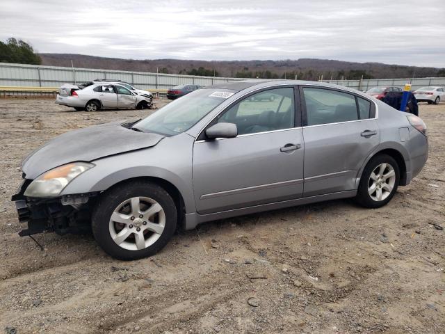
<path fill-rule="evenodd" d="M 27 179 L 73 161 L 93 161 L 141 148 L 150 148 L 164 136 L 122 127 L 122 121 L 95 125 L 57 136 L 34 150 L 22 163 Z"/>

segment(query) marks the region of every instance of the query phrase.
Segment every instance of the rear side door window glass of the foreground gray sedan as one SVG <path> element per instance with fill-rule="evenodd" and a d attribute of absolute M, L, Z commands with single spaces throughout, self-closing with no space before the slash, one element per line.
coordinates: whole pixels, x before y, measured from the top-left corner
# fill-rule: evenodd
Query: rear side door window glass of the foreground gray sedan
<path fill-rule="evenodd" d="M 355 96 L 337 90 L 303 88 L 307 125 L 321 125 L 358 120 Z M 366 113 L 366 107 L 364 112 Z M 368 111 L 369 115 L 369 111 Z"/>

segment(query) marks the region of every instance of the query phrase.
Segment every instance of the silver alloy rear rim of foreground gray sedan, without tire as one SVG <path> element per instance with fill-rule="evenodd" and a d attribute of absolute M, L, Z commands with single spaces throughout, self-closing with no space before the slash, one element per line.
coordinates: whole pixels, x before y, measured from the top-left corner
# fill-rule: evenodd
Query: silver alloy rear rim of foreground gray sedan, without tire
<path fill-rule="evenodd" d="M 376 202 L 385 200 L 394 189 L 396 172 L 390 164 L 380 164 L 374 168 L 368 181 L 369 196 Z"/>

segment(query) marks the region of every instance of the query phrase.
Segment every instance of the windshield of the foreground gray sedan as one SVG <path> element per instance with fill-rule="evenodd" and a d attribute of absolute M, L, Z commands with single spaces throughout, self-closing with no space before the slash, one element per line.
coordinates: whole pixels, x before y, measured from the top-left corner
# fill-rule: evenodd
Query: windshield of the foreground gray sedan
<path fill-rule="evenodd" d="M 193 127 L 234 93 L 234 90 L 216 88 L 195 90 L 163 106 L 133 125 L 133 128 L 142 132 L 175 136 Z"/>

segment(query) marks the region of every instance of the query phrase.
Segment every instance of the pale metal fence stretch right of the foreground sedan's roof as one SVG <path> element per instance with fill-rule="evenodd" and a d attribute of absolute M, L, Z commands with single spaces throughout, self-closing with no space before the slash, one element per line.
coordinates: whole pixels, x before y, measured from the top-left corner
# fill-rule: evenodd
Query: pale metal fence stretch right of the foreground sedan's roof
<path fill-rule="evenodd" d="M 411 84 L 411 90 L 416 90 L 423 86 L 444 86 L 445 78 L 412 78 L 412 79 L 363 79 L 363 80 L 323 80 L 330 84 L 355 88 L 357 90 L 369 90 L 378 86 L 403 87 Z"/>

